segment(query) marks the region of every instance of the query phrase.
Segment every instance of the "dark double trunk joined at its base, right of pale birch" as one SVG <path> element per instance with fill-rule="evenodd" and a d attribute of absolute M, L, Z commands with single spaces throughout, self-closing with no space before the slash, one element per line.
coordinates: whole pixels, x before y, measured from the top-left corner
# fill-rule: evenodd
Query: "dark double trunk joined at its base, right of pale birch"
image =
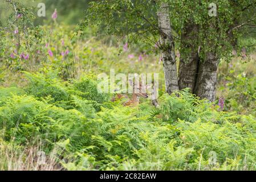
<path fill-rule="evenodd" d="M 181 57 L 178 70 L 180 89 L 190 88 L 192 93 L 209 101 L 215 100 L 217 69 L 219 59 L 216 53 L 209 52 L 200 60 L 200 44 L 197 42 L 198 27 L 187 23 L 181 34 Z"/>

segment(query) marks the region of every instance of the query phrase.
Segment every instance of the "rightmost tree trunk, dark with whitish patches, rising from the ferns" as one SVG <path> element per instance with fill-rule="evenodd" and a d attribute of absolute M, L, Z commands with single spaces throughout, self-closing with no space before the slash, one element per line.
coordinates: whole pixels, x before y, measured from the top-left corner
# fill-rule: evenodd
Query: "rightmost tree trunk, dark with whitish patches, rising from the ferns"
<path fill-rule="evenodd" d="M 195 93 L 200 98 L 207 98 L 211 102 L 215 100 L 218 63 L 216 53 L 209 52 L 205 60 L 199 64 Z"/>

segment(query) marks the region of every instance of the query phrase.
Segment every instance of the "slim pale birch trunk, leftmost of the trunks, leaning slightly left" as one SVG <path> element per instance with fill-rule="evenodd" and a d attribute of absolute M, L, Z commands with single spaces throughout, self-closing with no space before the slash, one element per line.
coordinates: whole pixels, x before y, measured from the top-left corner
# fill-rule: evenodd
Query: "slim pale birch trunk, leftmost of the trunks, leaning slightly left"
<path fill-rule="evenodd" d="M 169 6 L 167 3 L 160 4 L 157 16 L 160 30 L 162 63 L 164 66 L 165 89 L 167 93 L 171 94 L 173 91 L 179 90 L 179 87 L 174 42 L 170 27 Z"/>

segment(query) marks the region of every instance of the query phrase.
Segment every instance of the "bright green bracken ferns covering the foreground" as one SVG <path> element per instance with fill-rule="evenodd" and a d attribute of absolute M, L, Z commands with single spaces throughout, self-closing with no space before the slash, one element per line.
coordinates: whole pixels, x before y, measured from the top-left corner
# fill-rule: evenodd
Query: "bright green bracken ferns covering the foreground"
<path fill-rule="evenodd" d="M 24 88 L 0 89 L 3 146 L 40 144 L 68 170 L 256 169 L 254 115 L 220 111 L 186 89 L 162 95 L 157 109 L 149 100 L 125 107 L 92 76 L 25 74 Z"/>

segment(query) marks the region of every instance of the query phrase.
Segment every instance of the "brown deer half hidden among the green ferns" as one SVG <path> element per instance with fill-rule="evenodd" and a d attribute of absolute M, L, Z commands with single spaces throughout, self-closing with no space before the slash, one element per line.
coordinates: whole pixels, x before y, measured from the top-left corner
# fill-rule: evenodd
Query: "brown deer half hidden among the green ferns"
<path fill-rule="evenodd" d="M 133 83 L 132 81 L 129 80 L 129 84 L 132 85 L 133 90 L 132 90 L 132 98 L 129 99 L 129 97 L 126 94 L 116 94 L 115 97 L 113 97 L 111 99 L 112 102 L 116 101 L 117 99 L 121 99 L 121 98 L 128 98 L 128 101 L 124 102 L 123 105 L 124 106 L 137 106 L 140 103 L 140 97 L 143 98 L 148 98 L 148 94 L 147 93 L 143 93 L 142 92 L 142 85 L 141 83 L 139 85 L 136 85 L 135 83 Z M 151 85 L 145 85 L 145 89 L 149 88 Z"/>

